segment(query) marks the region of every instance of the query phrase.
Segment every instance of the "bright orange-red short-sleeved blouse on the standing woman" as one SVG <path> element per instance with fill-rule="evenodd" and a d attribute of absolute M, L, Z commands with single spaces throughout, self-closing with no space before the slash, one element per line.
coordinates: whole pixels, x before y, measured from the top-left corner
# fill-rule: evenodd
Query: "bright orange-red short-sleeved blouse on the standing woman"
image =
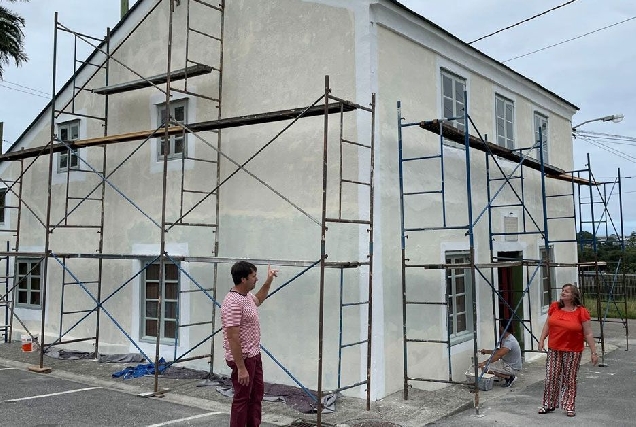
<path fill-rule="evenodd" d="M 559 308 L 558 302 L 548 309 L 548 348 L 560 351 L 581 352 L 584 348 L 583 322 L 590 320 L 590 312 L 585 307 L 574 311 Z"/>

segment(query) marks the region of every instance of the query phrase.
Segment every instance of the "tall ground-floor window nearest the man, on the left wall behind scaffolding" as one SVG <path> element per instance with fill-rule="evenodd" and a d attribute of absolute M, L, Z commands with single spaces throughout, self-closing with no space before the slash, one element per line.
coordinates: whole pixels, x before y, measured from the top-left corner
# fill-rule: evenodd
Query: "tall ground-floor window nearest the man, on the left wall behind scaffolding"
<path fill-rule="evenodd" d="M 142 337 L 159 337 L 166 340 L 175 340 L 178 335 L 177 316 L 179 309 L 179 268 L 167 262 L 164 264 L 164 281 L 161 304 L 161 324 L 159 318 L 159 286 L 160 265 L 154 263 L 144 270 L 143 278 L 143 319 Z"/>

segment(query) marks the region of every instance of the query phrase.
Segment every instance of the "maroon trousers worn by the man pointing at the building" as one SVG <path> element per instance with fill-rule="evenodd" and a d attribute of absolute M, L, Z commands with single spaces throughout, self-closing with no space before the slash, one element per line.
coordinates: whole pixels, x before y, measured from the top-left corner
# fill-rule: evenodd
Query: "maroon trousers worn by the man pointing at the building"
<path fill-rule="evenodd" d="M 234 385 L 234 400 L 230 414 L 230 427 L 258 427 L 261 425 L 261 403 L 265 393 L 263 383 L 263 362 L 261 355 L 245 359 L 245 368 L 250 375 L 250 382 L 242 386 L 238 382 L 238 368 L 236 363 L 226 361 L 232 368 L 232 384 Z"/>

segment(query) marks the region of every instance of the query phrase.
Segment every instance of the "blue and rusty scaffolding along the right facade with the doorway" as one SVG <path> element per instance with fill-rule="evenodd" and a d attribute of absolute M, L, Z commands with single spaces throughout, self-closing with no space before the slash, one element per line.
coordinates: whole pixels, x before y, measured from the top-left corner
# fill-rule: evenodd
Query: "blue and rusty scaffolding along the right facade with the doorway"
<path fill-rule="evenodd" d="M 464 92 L 463 105 L 468 105 L 466 92 Z M 554 253 L 557 245 L 575 247 L 577 244 L 577 239 L 574 237 L 577 229 L 576 204 L 580 197 L 577 199 L 576 190 L 580 191 L 582 187 L 589 187 L 591 194 L 592 189 L 597 188 L 599 183 L 591 174 L 583 177 L 583 171 L 566 172 L 544 161 L 546 156 L 543 152 L 545 144 L 542 133 L 545 128 L 536 129 L 535 142 L 529 147 L 507 149 L 488 142 L 487 137 L 481 135 L 466 109 L 463 115 L 458 117 L 409 122 L 405 120 L 401 102 L 398 101 L 397 122 L 402 230 L 404 399 L 409 397 L 411 382 L 465 384 L 464 381 L 454 380 L 456 376 L 453 375 L 453 369 L 456 368 L 456 363 L 453 363 L 451 353 L 454 326 L 460 322 L 464 326 L 472 325 L 471 369 L 474 370 L 475 381 L 473 384 L 474 406 L 479 412 L 478 382 L 483 373 L 480 373 L 476 363 L 478 360 L 478 280 L 480 283 L 487 284 L 491 292 L 495 346 L 502 339 L 498 331 L 499 321 L 505 320 L 508 322 L 506 329 L 514 322 L 519 326 L 515 328 L 517 331 L 521 330 L 530 336 L 530 343 L 524 343 L 524 334 L 518 336 L 524 354 L 537 351 L 535 342 L 538 338 L 533 330 L 532 321 L 532 301 L 536 299 L 536 297 L 532 298 L 532 295 L 536 292 L 530 292 L 530 290 L 536 289 L 536 284 L 539 283 L 541 291 L 539 304 L 547 306 L 557 289 L 560 289 L 557 288 L 555 281 L 556 268 L 567 269 L 568 272 L 584 267 L 593 267 L 598 270 L 597 262 L 580 263 L 578 260 L 555 262 Z M 416 142 L 410 140 L 410 143 L 405 143 L 405 132 L 412 127 L 439 135 L 437 147 L 432 147 L 430 144 L 425 146 L 419 139 Z M 471 135 L 471 132 L 477 136 Z M 454 220 L 453 222 L 448 215 L 450 209 L 447 208 L 448 183 L 444 155 L 444 146 L 448 141 L 458 143 L 464 149 L 465 171 L 463 174 L 465 174 L 466 198 L 463 203 L 466 209 L 464 221 Z M 471 157 L 471 151 L 481 151 L 485 154 L 486 204 L 479 212 L 475 210 L 479 202 L 473 199 L 475 189 L 472 182 L 473 174 L 471 174 L 471 165 L 476 164 L 477 155 L 473 154 Z M 498 159 L 509 162 L 506 165 L 508 170 L 502 167 Z M 589 162 L 586 170 L 588 172 L 591 170 Z M 529 174 L 533 174 L 535 179 L 528 183 Z M 454 175 L 461 174 L 455 170 Z M 439 176 L 439 180 L 435 182 L 431 176 Z M 563 182 L 563 184 L 547 186 L 548 180 L 551 183 Z M 535 188 L 532 188 L 533 182 Z M 527 196 L 528 194 L 536 195 L 536 193 L 539 193 L 540 197 L 533 199 Z M 507 197 L 502 194 L 506 194 Z M 420 199 L 422 203 L 420 206 L 428 208 L 418 210 L 413 207 L 414 205 L 409 207 L 410 202 L 415 198 Z M 499 202 L 500 199 L 503 201 Z M 422 200 L 425 202 L 421 202 Z M 453 202 L 459 203 L 457 199 L 453 199 Z M 534 206 L 534 212 L 531 206 Z M 562 207 L 566 206 L 571 208 L 564 210 Z M 435 211 L 435 207 L 439 207 L 440 211 Z M 509 212 L 513 209 L 521 210 L 521 215 L 513 215 Z M 455 216 L 457 211 L 454 212 Z M 487 224 L 483 224 L 486 222 L 484 216 L 486 216 Z M 503 231 L 495 231 L 498 227 L 494 226 L 493 218 L 498 216 L 504 219 Z M 487 236 L 490 251 L 489 261 L 483 263 L 476 261 L 475 253 L 475 235 L 478 232 L 480 220 L 483 227 L 487 227 L 487 232 L 484 234 Z M 598 224 L 598 221 L 594 224 Z M 569 231 L 564 233 L 563 230 Z M 444 236 L 446 240 L 467 238 L 468 243 L 458 253 L 447 252 L 444 261 L 430 262 L 428 261 L 430 257 L 439 256 L 439 253 L 435 250 L 427 251 L 426 245 L 422 244 L 427 240 L 421 237 L 418 240 L 418 236 L 422 235 Z M 495 251 L 493 243 L 495 240 L 517 241 L 522 235 L 537 236 L 542 242 L 540 256 L 527 258 L 522 255 L 522 252 Z M 439 277 L 430 275 L 430 272 L 435 271 L 438 272 L 437 274 L 445 272 L 445 290 L 441 288 L 432 288 L 432 292 L 430 289 L 424 290 L 422 285 L 427 283 L 427 279 L 434 281 L 436 277 Z M 526 277 L 525 284 L 522 283 L 523 276 Z M 576 273 L 573 277 L 576 277 Z M 513 285 L 515 282 L 516 285 Z M 472 301 L 472 304 L 469 301 Z M 524 308 L 524 305 L 527 307 Z M 431 331 L 430 325 L 424 323 L 422 327 L 418 324 L 418 319 L 426 322 L 436 318 L 433 316 L 439 315 L 440 308 L 445 319 L 444 328 Z M 454 317 L 451 314 L 454 314 Z M 418 326 L 413 326 L 414 323 Z M 467 328 L 467 330 L 470 329 Z M 444 334 L 445 336 L 442 336 Z M 601 343 L 602 337 L 601 325 Z M 413 361 L 416 346 L 427 346 L 429 349 L 445 348 L 445 359 L 448 363 L 446 378 L 439 375 L 435 378 L 416 377 L 410 373 L 418 362 L 422 363 L 421 359 Z M 439 353 L 429 351 L 428 354 Z"/>

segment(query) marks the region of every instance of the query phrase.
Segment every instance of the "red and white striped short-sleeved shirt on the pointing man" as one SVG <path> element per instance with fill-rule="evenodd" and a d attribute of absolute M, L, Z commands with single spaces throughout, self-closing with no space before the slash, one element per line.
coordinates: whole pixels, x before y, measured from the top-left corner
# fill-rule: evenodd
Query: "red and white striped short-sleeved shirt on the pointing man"
<path fill-rule="evenodd" d="M 242 295 L 230 291 L 221 305 L 221 323 L 223 324 L 223 348 L 225 360 L 233 361 L 230 342 L 227 339 L 227 328 L 239 327 L 239 340 L 243 358 L 254 357 L 261 352 L 261 325 L 258 319 L 258 298 L 248 292 Z"/>

